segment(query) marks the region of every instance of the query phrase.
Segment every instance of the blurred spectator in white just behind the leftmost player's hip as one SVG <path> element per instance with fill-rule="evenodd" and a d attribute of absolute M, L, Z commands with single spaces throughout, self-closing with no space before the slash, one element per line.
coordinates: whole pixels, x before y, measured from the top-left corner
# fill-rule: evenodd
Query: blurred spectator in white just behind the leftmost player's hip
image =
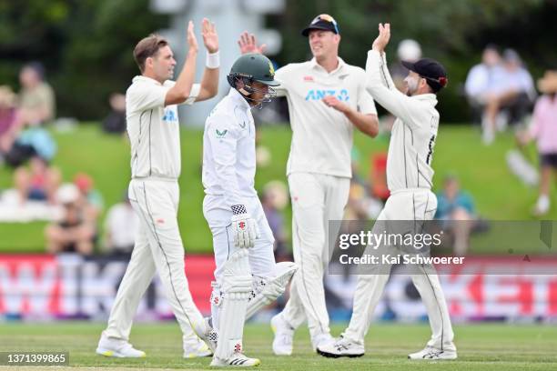
<path fill-rule="evenodd" d="M 106 215 L 106 250 L 112 256 L 131 256 L 136 241 L 139 218 L 127 193 L 122 202 L 110 207 Z"/>

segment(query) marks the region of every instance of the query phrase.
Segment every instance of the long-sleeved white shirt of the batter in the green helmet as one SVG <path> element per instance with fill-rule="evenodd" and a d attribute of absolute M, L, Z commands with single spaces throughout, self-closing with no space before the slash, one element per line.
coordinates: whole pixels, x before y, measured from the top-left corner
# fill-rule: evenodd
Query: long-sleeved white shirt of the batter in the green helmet
<path fill-rule="evenodd" d="M 222 207 L 246 205 L 246 198 L 257 196 L 255 135 L 248 102 L 230 89 L 203 133 L 203 186 L 207 195 L 222 196 Z"/>

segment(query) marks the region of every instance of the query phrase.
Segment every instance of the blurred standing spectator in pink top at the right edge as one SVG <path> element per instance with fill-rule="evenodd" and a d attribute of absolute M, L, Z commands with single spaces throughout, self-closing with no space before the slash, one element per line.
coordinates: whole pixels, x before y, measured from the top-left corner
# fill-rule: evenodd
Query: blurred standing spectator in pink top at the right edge
<path fill-rule="evenodd" d="M 534 215 L 542 216 L 550 209 L 552 171 L 557 169 L 557 71 L 547 71 L 538 80 L 538 89 L 543 95 L 534 106 L 530 129 L 519 134 L 519 142 L 521 145 L 526 145 L 532 139 L 537 142 L 542 176 Z"/>

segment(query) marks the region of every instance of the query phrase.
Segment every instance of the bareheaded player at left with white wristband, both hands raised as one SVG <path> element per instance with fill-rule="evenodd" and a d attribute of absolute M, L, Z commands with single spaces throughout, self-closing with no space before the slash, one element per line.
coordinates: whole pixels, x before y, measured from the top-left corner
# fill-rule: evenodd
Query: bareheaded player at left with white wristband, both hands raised
<path fill-rule="evenodd" d="M 140 227 L 126 274 L 118 288 L 108 326 L 96 353 L 103 356 L 143 357 L 145 352 L 129 342 L 133 316 L 141 296 L 158 273 L 184 335 L 184 356 L 207 356 L 204 343 L 211 329 L 197 310 L 187 287 L 184 246 L 177 226 L 180 133 L 177 105 L 191 105 L 218 93 L 218 35 L 215 25 L 203 20 L 203 42 L 208 51 L 201 84 L 194 84 L 197 40 L 194 25 L 187 25 L 187 59 L 177 81 L 176 60 L 167 40 L 149 35 L 134 49 L 141 75 L 126 93 L 127 134 L 131 143 L 128 196 L 139 216 Z M 190 349 L 191 333 L 197 336 Z M 214 336 L 214 334 L 211 334 Z"/>

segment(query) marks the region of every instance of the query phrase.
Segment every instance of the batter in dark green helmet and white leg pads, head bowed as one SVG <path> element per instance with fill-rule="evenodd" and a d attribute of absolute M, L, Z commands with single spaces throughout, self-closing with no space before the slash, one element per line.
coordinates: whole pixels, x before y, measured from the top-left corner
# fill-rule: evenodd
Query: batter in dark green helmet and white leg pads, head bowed
<path fill-rule="evenodd" d="M 296 266 L 275 263 L 274 237 L 254 188 L 255 125 L 251 108 L 275 95 L 273 65 L 264 55 L 242 55 L 232 65 L 232 87 L 208 116 L 203 134 L 203 214 L 213 234 L 215 282 L 211 322 L 218 346 L 211 366 L 258 366 L 242 354 L 247 316 L 281 295 Z"/>

